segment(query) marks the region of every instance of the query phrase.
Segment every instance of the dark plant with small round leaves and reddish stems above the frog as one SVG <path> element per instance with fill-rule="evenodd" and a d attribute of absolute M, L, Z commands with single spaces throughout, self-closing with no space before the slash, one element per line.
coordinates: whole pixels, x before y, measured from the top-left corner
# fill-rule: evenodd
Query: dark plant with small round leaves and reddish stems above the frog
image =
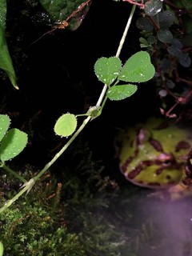
<path fill-rule="evenodd" d="M 177 106 L 187 105 L 192 76 L 192 2 L 151 0 L 136 22 L 140 46 L 150 53 L 156 70 L 156 90 L 161 99 L 160 111 L 177 117 Z M 190 110 L 189 110 L 190 112 Z M 190 113 L 181 113 L 186 118 Z"/>

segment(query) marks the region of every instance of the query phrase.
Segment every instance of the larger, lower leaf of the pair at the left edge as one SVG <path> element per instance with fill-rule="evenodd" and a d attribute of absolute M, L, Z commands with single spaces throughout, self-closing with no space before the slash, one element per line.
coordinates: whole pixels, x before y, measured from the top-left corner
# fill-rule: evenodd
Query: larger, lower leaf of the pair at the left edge
<path fill-rule="evenodd" d="M 27 134 L 16 128 L 8 130 L 6 136 L 2 138 L 0 146 L 0 159 L 2 162 L 16 157 L 25 148 Z"/>

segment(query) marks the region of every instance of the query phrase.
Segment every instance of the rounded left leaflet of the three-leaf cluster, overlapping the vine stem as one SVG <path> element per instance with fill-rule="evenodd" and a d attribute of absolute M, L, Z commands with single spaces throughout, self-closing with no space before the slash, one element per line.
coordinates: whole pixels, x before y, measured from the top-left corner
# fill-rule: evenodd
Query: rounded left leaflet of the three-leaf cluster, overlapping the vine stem
<path fill-rule="evenodd" d="M 94 72 L 98 80 L 110 86 L 118 77 L 122 62 L 117 57 L 99 58 L 94 64 Z"/>

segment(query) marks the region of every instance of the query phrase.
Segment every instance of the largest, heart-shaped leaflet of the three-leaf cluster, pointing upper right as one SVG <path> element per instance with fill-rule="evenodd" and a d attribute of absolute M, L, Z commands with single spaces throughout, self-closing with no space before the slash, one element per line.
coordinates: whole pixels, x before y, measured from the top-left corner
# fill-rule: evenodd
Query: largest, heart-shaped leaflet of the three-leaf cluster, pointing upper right
<path fill-rule="evenodd" d="M 154 73 L 150 54 L 146 51 L 139 51 L 127 60 L 118 79 L 125 82 L 146 82 L 154 77 Z"/>

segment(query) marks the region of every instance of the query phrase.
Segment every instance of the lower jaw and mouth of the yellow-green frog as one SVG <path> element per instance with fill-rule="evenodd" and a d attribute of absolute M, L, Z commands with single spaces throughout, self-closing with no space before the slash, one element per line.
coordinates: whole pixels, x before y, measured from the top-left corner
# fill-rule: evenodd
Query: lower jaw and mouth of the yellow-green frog
<path fill-rule="evenodd" d="M 131 159 L 128 159 L 121 166 L 121 170 L 126 179 L 138 186 L 165 188 L 174 186 L 182 178 L 184 162 L 177 162 L 170 153 L 160 153 L 153 160 L 141 161 L 127 173 L 130 162 Z"/>

